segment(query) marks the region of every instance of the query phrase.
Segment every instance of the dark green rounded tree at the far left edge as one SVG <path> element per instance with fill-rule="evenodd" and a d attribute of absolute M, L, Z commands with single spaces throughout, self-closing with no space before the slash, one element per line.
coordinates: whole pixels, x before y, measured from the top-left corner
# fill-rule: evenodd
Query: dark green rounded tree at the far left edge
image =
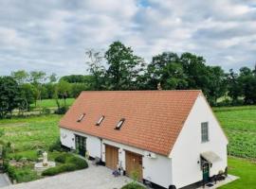
<path fill-rule="evenodd" d="M 0 118 L 18 108 L 20 102 L 18 83 L 12 77 L 0 77 Z"/>

